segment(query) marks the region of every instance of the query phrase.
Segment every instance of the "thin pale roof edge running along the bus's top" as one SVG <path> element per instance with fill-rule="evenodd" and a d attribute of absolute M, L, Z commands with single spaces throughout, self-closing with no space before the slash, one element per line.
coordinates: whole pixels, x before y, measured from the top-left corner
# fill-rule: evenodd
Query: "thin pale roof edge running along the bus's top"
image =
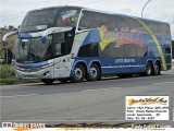
<path fill-rule="evenodd" d="M 134 15 L 126 15 L 126 14 L 100 11 L 100 10 L 95 10 L 95 9 L 89 9 L 89 8 L 84 8 L 84 7 L 75 7 L 75 5 L 49 7 L 49 8 L 32 10 L 29 12 L 39 11 L 39 10 L 49 10 L 49 9 L 63 9 L 63 8 L 76 8 L 76 9 L 83 9 L 83 10 L 94 11 L 94 12 L 98 12 L 98 13 L 105 13 L 105 14 L 112 14 L 112 15 L 119 15 L 119 16 L 125 16 L 125 17 L 137 17 L 139 20 L 145 20 L 145 21 L 149 21 L 149 22 L 154 22 L 154 23 L 160 23 L 160 24 L 169 24 L 167 22 L 162 22 L 162 21 L 157 21 L 157 20 L 151 20 L 151 19 L 145 19 L 145 17 L 138 17 L 138 16 L 134 16 Z"/>

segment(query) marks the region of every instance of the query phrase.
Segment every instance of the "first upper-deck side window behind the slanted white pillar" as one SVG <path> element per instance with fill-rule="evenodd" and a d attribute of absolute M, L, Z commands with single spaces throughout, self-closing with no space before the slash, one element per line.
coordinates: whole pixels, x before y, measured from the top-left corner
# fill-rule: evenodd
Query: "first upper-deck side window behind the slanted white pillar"
<path fill-rule="evenodd" d="M 100 27 L 100 15 L 96 12 L 84 11 L 79 21 L 79 28 L 98 28 Z"/>

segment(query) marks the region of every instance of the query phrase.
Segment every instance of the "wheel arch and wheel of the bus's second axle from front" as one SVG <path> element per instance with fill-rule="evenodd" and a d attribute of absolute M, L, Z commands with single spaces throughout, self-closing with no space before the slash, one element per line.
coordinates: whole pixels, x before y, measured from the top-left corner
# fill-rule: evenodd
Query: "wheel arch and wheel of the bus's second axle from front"
<path fill-rule="evenodd" d="M 99 62 L 92 62 L 90 64 L 89 71 L 86 75 L 87 81 L 98 81 L 101 80 L 101 66 Z"/>

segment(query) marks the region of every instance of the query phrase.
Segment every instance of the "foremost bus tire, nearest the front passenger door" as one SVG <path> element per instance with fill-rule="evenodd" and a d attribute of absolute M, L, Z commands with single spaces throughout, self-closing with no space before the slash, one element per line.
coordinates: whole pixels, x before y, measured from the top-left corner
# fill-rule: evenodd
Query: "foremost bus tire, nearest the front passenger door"
<path fill-rule="evenodd" d="M 83 82 L 85 79 L 85 69 L 82 64 L 77 64 L 73 71 L 72 82 Z"/>

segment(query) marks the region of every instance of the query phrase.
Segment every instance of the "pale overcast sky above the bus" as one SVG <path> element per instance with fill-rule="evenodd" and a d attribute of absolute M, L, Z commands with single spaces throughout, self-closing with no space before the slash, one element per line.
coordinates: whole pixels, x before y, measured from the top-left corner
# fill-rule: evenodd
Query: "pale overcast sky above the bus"
<path fill-rule="evenodd" d="M 78 5 L 134 16 L 141 16 L 148 0 L 0 0 L 0 27 L 21 25 L 25 14 L 35 9 Z M 171 24 L 174 39 L 174 0 L 151 0 L 145 8 L 142 16 Z M 173 23 L 173 24 L 172 24 Z"/>

